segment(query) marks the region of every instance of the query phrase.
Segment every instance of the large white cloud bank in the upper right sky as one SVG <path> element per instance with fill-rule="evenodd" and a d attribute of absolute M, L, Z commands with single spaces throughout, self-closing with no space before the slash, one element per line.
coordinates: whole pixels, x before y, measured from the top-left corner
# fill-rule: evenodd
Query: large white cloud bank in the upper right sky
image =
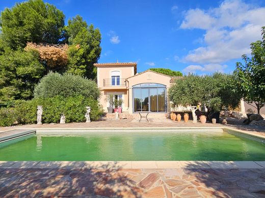
<path fill-rule="evenodd" d="M 184 57 L 196 63 L 222 63 L 250 53 L 250 43 L 261 39 L 265 7 L 256 8 L 241 0 L 227 0 L 218 8 L 191 9 L 180 28 L 203 29 L 202 44 Z M 199 38 L 200 39 L 200 38 Z"/>

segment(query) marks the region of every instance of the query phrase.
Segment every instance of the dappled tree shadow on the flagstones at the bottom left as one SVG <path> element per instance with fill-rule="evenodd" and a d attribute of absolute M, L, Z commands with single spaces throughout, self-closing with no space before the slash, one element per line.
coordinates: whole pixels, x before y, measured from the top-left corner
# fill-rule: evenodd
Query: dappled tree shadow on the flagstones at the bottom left
<path fill-rule="evenodd" d="M 0 197 L 141 197 L 117 163 L 79 169 L 1 169 Z"/>

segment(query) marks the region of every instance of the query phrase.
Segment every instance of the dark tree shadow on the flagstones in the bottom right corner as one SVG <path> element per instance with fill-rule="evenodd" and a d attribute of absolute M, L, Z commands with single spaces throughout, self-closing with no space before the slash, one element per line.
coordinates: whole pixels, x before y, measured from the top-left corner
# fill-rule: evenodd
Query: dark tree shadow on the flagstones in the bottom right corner
<path fill-rule="evenodd" d="M 192 162 L 183 171 L 195 178 L 192 183 L 203 197 L 265 197 L 264 169 L 227 169 L 229 165 L 223 162 L 221 169 L 200 169 L 196 167 L 204 163 Z"/>

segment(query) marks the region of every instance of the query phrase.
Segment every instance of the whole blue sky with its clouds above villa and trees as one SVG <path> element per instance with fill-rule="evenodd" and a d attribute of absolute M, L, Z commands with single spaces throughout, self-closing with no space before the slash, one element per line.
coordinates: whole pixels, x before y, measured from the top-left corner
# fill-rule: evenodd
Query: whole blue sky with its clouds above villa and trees
<path fill-rule="evenodd" d="M 0 9 L 18 0 L 1 0 Z M 46 0 L 100 29 L 99 62 L 138 62 L 138 72 L 169 68 L 231 73 L 249 44 L 261 39 L 265 1 Z"/>

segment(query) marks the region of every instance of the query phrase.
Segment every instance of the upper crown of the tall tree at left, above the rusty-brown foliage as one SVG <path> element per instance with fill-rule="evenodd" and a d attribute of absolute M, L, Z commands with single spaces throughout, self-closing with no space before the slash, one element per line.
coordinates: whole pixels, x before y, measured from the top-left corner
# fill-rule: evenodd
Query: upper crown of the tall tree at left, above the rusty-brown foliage
<path fill-rule="evenodd" d="M 12 49 L 26 42 L 57 44 L 63 39 L 65 15 L 42 0 L 29 0 L 6 8 L 0 16 L 1 40 Z"/>

